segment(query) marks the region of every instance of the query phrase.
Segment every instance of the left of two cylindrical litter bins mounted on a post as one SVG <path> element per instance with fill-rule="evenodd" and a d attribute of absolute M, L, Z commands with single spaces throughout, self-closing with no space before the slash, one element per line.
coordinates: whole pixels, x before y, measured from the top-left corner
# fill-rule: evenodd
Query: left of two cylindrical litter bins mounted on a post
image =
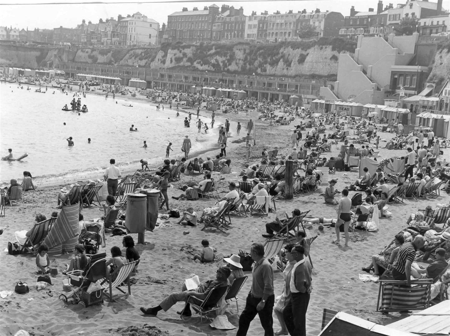
<path fill-rule="evenodd" d="M 126 196 L 125 227 L 129 233 L 144 233 L 146 223 L 146 196 L 141 193 Z"/>

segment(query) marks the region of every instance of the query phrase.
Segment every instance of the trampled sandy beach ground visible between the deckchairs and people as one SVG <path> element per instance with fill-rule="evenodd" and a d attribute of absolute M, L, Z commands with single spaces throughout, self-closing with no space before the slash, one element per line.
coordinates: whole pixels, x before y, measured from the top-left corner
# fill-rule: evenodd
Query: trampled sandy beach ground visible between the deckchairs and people
<path fill-rule="evenodd" d="M 74 87 L 75 91 L 75 87 Z M 133 100 L 126 96 L 127 100 Z M 137 96 L 136 99 L 147 100 L 144 96 Z M 186 110 L 189 111 L 189 110 Z M 193 109 L 190 111 L 193 112 Z M 175 111 L 174 111 L 175 113 Z M 183 115 L 183 114 L 182 114 Z M 201 110 L 200 115 L 210 116 L 211 111 Z M 194 117 L 194 113 L 193 113 Z M 231 129 L 234 132 L 236 123 L 246 125 L 248 116 L 243 114 L 222 114 L 216 112 L 216 118 L 220 121 L 228 118 L 231 121 Z M 301 120 L 301 119 L 297 119 Z M 297 121 L 296 120 L 296 121 Z M 232 173 L 222 174 L 217 178 L 225 177 L 221 181 L 219 193 L 225 195 L 229 181 L 238 181 L 238 173 L 245 163 L 259 163 L 262 148 L 268 150 L 279 150 L 279 155 L 283 156 L 290 152 L 289 132 L 296 125 L 296 121 L 291 126 L 271 126 L 266 122 L 256 122 L 257 145 L 252 147 L 251 158 L 247 160 L 245 143 L 232 143 L 232 141 L 245 136 L 245 127 L 241 136 L 234 136 L 229 139 L 227 145 L 227 157 L 231 159 Z M 180 119 L 181 122 L 181 119 Z M 216 125 L 210 132 L 217 132 Z M 329 133 L 327 127 L 327 133 Z M 350 132 L 350 134 L 352 131 Z M 381 138 L 390 139 L 393 134 L 379 132 Z M 405 150 L 387 150 L 382 147 L 386 142 L 380 142 L 379 157 L 381 159 L 403 156 Z M 360 145 L 356 145 L 360 147 Z M 212 150 L 210 150 L 212 148 Z M 196 155 L 203 159 L 207 155 L 218 154 L 219 146 L 211 144 L 202 153 L 192 153 L 189 159 Z M 326 157 L 337 156 L 336 145 L 332 146 L 332 152 Z M 200 155 L 201 154 L 201 155 Z M 450 148 L 444 149 L 441 158 L 450 158 Z M 180 157 L 176 158 L 180 159 Z M 380 159 L 378 159 L 380 160 Z M 127 173 L 134 173 L 140 165 L 129 167 L 129 171 L 122 171 L 122 176 Z M 324 183 L 318 190 L 304 195 L 294 196 L 293 200 L 279 200 L 276 203 L 277 210 L 283 209 L 290 213 L 294 208 L 302 211 L 311 210 L 310 214 L 316 217 L 336 218 L 336 206 L 324 204 L 322 194 L 327 181 L 331 178 L 338 178 L 336 188 L 342 190 L 345 186 L 355 181 L 357 172 L 337 172 L 336 175 L 324 177 Z M 55 182 L 45 180 L 37 183 L 35 191 L 26 191 L 23 195 L 25 204 L 6 206 L 6 216 L 0 218 L 0 226 L 7 227 L 0 236 L 0 246 L 2 250 L 7 247 L 15 231 L 28 230 L 32 227 L 36 213 L 44 213 L 47 218 L 56 210 L 56 200 L 59 189 L 77 180 L 97 179 L 101 176 L 79 176 L 71 181 L 63 179 Z M 185 176 L 181 175 L 181 180 L 173 183 L 174 188 L 168 190 L 169 197 L 180 195 L 178 189 L 184 183 L 202 180 L 201 175 Z M 392 184 L 390 185 L 392 186 Z M 350 192 L 350 196 L 354 192 Z M 447 203 L 449 195 L 441 191 L 441 195 L 435 198 L 405 199 L 405 203 L 389 204 L 391 218 L 380 220 L 380 230 L 378 232 L 352 232 L 348 248 L 333 245 L 331 241 L 335 237 L 334 228 L 325 227 L 320 231 L 317 225 L 306 227 L 307 236 L 319 235 L 311 246 L 311 258 L 313 268 L 313 291 L 311 301 L 306 315 L 306 331 L 308 336 L 318 335 L 324 308 L 342 310 L 347 313 L 357 315 L 370 321 L 388 324 L 398 319 L 408 316 L 407 313 L 391 313 L 384 315 L 375 312 L 378 295 L 378 283 L 361 282 L 358 274 L 361 267 L 367 266 L 370 256 L 383 250 L 384 246 L 392 241 L 393 236 L 405 227 L 406 219 L 410 213 L 415 213 L 419 207 L 423 209 L 427 205 L 434 206 L 436 203 Z M 205 207 L 214 204 L 214 199 L 200 199 L 198 201 L 178 201 L 170 199 L 171 209 L 184 211 L 189 205 L 194 210 L 201 212 Z M 102 210 L 103 211 L 103 210 Z M 83 209 L 85 220 L 98 218 L 101 215 L 98 207 Z M 72 254 L 50 256 L 52 268 L 58 268 L 59 274 L 52 278 L 52 292 L 50 297 L 45 291 L 36 291 L 36 263 L 35 257 L 31 254 L 21 254 L 12 256 L 3 251 L 0 254 L 0 291 L 14 291 L 16 282 L 22 280 L 30 286 L 30 292 L 24 295 L 13 293 L 4 299 L 0 299 L 0 316 L 2 326 L 0 335 L 14 335 L 19 329 L 24 329 L 35 336 L 46 335 L 162 335 L 162 336 L 203 336 L 203 335 L 235 335 L 237 329 L 223 331 L 215 330 L 209 326 L 209 322 L 200 322 L 198 315 L 190 318 L 180 319 L 176 314 L 177 310 L 183 307 L 182 303 L 176 304 L 167 312 L 159 312 L 157 317 L 144 316 L 139 307 L 156 306 L 172 291 L 180 291 L 185 278 L 191 274 L 197 274 L 201 282 L 215 277 L 216 269 L 223 264 L 222 259 L 216 259 L 213 263 L 196 263 L 191 257 L 194 252 L 201 250 L 202 239 L 208 239 L 210 245 L 218 250 L 218 253 L 228 256 L 238 253 L 239 250 L 249 252 L 253 242 L 264 242 L 261 234 L 266 233 L 265 223 L 275 219 L 275 215 L 255 217 L 232 216 L 232 228 L 226 233 L 217 230 L 206 229 L 201 231 L 202 225 L 197 227 L 183 227 L 176 224 L 177 219 L 170 218 L 171 225 L 157 227 L 154 232 L 145 232 L 145 244 L 136 245 L 141 254 L 139 264 L 139 274 L 135 276 L 136 283 L 131 286 L 131 295 L 122 298 L 117 302 L 106 302 L 104 304 L 82 307 L 81 305 L 66 305 L 58 300 L 58 294 L 63 293 L 63 280 L 66 276 L 61 274 L 64 264 L 70 261 Z M 184 235 L 183 231 L 189 231 Z M 132 235 L 137 241 L 137 234 Z M 106 251 L 110 254 L 112 246 L 117 245 L 122 248 L 122 237 L 107 234 Z M 239 312 L 245 306 L 245 298 L 252 283 L 251 272 L 247 282 L 238 295 Z M 275 273 L 275 295 L 281 294 L 283 290 L 283 277 L 281 273 Z M 230 305 L 225 313 L 234 326 L 238 326 L 238 313 L 235 304 Z M 274 330 L 279 330 L 279 322 L 274 314 Z M 263 329 L 259 318 L 255 318 L 250 326 L 249 336 L 263 335 Z"/>

